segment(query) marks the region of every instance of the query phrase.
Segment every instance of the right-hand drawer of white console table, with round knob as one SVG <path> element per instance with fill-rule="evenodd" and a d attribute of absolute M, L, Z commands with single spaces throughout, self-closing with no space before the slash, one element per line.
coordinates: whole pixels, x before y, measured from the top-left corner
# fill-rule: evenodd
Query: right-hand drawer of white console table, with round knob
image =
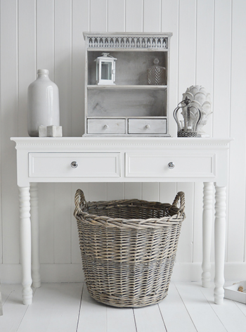
<path fill-rule="evenodd" d="M 126 177 L 215 177 L 215 156 L 126 153 Z"/>

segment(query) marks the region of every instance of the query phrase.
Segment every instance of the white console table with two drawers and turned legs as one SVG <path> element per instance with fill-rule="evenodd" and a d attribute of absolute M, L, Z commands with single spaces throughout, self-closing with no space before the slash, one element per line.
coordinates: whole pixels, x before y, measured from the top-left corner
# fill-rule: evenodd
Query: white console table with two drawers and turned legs
<path fill-rule="evenodd" d="M 210 281 L 213 186 L 215 186 L 214 302 L 224 299 L 226 184 L 231 139 L 160 137 L 11 138 L 17 150 L 20 189 L 22 300 L 40 287 L 38 182 L 204 183 L 202 286 Z M 32 215 L 32 217 L 31 217 Z"/>

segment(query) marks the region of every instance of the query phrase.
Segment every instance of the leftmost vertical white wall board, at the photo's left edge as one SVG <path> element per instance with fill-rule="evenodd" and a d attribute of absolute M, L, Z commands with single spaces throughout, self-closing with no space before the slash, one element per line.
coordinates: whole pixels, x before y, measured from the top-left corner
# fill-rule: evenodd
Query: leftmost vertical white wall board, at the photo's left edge
<path fill-rule="evenodd" d="M 18 134 L 18 8 L 1 3 L 1 199 L 3 262 L 19 262 L 16 158 L 9 140 Z"/>

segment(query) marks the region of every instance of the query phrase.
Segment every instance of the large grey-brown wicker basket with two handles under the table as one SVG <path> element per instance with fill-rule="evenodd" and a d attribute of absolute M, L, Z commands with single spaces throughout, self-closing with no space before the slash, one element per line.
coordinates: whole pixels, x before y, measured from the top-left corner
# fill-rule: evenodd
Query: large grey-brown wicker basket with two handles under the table
<path fill-rule="evenodd" d="M 167 296 L 184 203 L 183 192 L 172 205 L 138 199 L 87 203 L 77 190 L 74 215 L 92 298 L 115 307 L 143 307 Z"/>

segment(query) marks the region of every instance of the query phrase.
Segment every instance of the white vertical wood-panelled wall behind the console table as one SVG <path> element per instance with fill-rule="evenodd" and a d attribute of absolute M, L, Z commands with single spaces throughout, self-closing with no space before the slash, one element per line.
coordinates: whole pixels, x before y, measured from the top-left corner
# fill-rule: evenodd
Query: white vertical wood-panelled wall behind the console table
<path fill-rule="evenodd" d="M 173 32 L 170 63 L 172 111 L 193 84 L 212 96 L 205 131 L 231 136 L 226 276 L 245 270 L 246 12 L 241 0 L 8 0 L 1 1 L 1 228 L 0 274 L 20 281 L 18 188 L 11 136 L 27 136 L 27 87 L 46 68 L 60 90 L 64 136 L 84 127 L 83 31 Z M 171 202 L 186 193 L 186 222 L 177 255 L 176 279 L 198 279 L 202 260 L 202 184 L 39 184 L 42 279 L 81 279 L 73 196 L 88 200 L 143 198 Z M 212 257 L 213 259 L 213 257 Z M 191 269 L 190 269 L 191 267 Z M 227 268 L 228 267 L 228 268 Z"/>

